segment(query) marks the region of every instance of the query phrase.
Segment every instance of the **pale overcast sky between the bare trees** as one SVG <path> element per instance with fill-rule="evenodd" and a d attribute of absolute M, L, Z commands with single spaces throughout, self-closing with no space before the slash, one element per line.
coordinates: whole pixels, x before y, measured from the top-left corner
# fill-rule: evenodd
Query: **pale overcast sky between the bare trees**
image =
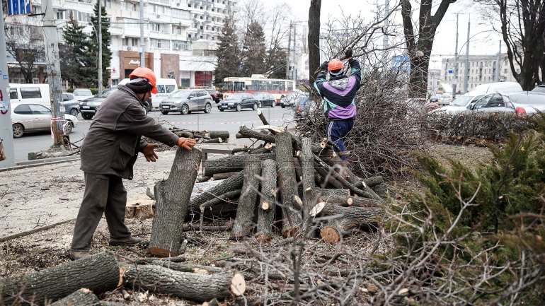
<path fill-rule="evenodd" d="M 370 2 L 371 0 L 369 0 Z M 384 1 L 384 0 L 378 0 Z M 285 1 L 275 0 L 266 1 L 270 5 L 271 3 L 283 3 Z M 321 24 L 325 25 L 329 19 L 341 18 L 342 13 L 359 14 L 362 11 L 362 16 L 365 14 L 371 14 L 370 9 L 373 8 L 369 5 L 368 1 L 362 0 L 322 0 L 321 1 Z M 411 1 L 413 8 L 418 8 L 418 4 L 415 1 Z M 439 1 L 434 1 L 439 3 Z M 391 0 L 391 5 L 394 4 L 394 0 Z M 309 16 L 310 0 L 297 0 L 290 1 L 288 5 L 292 7 L 294 16 L 297 16 L 297 20 L 306 21 Z M 454 57 L 454 49 L 456 45 L 456 13 L 461 12 L 459 15 L 458 26 L 458 50 L 460 54 L 466 54 L 466 47 L 464 43 L 467 40 L 467 22 L 471 13 L 471 33 L 469 43 L 469 54 L 497 54 L 500 42 L 500 35 L 493 33 L 490 20 L 483 20 L 482 16 L 478 13 L 478 8 L 474 7 L 471 0 L 458 0 L 456 3 L 451 4 L 444 16 L 442 22 L 437 28 L 435 35 L 435 42 L 432 49 L 432 59 L 430 60 L 430 69 L 440 69 L 442 57 Z M 395 18 L 398 19 L 399 13 L 396 13 Z M 398 20 L 401 23 L 401 20 Z M 505 52 L 505 44 L 502 47 L 502 52 Z"/>

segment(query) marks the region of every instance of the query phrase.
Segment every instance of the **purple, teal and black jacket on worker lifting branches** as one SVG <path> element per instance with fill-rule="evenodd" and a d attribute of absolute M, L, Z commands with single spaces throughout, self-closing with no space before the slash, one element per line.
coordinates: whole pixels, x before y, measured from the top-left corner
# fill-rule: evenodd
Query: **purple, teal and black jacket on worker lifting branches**
<path fill-rule="evenodd" d="M 328 119 L 343 120 L 356 116 L 355 96 L 360 82 L 362 72 L 360 63 L 355 59 L 349 59 L 350 76 L 334 76 L 326 81 L 326 71 L 320 71 L 316 76 L 314 88 L 318 90 L 323 100 L 323 110 Z"/>

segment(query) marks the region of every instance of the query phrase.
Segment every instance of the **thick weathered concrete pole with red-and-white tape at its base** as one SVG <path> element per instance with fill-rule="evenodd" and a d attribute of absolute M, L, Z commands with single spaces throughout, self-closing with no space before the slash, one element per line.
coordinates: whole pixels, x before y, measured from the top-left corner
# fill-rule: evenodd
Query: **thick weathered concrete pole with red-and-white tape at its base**
<path fill-rule="evenodd" d="M 61 112 L 61 66 L 59 63 L 59 45 L 57 43 L 57 25 L 55 25 L 55 18 L 53 16 L 53 1 L 42 0 L 42 8 L 45 8 L 43 33 L 45 49 L 47 50 L 45 63 L 47 66 L 47 82 L 50 84 L 53 146 L 62 146 L 61 135 L 64 134 L 62 133 L 64 112 Z"/>

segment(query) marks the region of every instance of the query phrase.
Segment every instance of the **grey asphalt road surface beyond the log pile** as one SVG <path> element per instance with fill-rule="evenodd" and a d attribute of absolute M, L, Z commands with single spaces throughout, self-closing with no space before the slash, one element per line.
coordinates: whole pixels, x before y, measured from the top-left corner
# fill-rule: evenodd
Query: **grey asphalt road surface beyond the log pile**
<path fill-rule="evenodd" d="M 265 114 L 272 125 L 287 126 L 293 119 L 293 112 L 290 109 L 282 109 L 281 107 L 263 107 L 261 112 Z M 166 127 L 176 126 L 184 129 L 193 130 L 226 130 L 231 134 L 230 142 L 236 142 L 235 134 L 239 131 L 239 126 L 246 125 L 248 127 L 262 125 L 258 114 L 254 110 L 242 110 L 235 112 L 226 110 L 219 112 L 217 107 L 212 108 L 210 114 L 203 112 L 195 112 L 192 114 L 161 114 L 159 111 L 150 112 L 149 116 L 156 118 Z M 78 117 L 79 125 L 70 134 L 72 142 L 84 139 L 86 131 L 91 124 L 91 120 L 81 119 Z M 14 139 L 16 162 L 28 160 L 28 153 L 35 151 L 46 150 L 51 146 L 52 138 L 49 133 L 28 134 L 20 139 Z M 81 144 L 81 141 L 76 144 Z"/>

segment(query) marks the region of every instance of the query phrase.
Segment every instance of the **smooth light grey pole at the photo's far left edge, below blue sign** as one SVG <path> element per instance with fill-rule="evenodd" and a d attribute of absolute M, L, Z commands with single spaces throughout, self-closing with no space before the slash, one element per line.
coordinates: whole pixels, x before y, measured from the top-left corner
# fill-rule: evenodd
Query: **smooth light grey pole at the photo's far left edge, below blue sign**
<path fill-rule="evenodd" d="M 6 33 L 4 33 L 4 10 L 0 10 L 0 168 L 15 165 L 13 150 L 13 131 L 11 131 L 11 114 L 9 112 L 9 80 L 8 59 L 6 56 Z M 4 78 L 6 77 L 6 78 Z M 5 90 L 5 91 L 4 91 Z"/>

